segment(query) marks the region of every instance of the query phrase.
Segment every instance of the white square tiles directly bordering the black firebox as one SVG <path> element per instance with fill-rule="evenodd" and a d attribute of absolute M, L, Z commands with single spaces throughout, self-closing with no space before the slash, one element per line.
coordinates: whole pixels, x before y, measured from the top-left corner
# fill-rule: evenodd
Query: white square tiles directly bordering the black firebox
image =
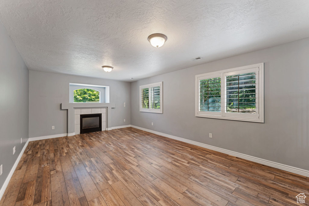
<path fill-rule="evenodd" d="M 102 114 L 102 131 L 106 130 L 106 108 L 92 109 L 74 109 L 74 132 L 75 135 L 80 133 L 80 115 L 85 114 Z"/>

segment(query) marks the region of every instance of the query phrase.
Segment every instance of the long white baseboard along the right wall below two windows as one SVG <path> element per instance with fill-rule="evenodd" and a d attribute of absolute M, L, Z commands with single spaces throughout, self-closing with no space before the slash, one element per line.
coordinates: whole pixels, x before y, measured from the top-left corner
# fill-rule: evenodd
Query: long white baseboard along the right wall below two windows
<path fill-rule="evenodd" d="M 309 170 L 304 170 L 304 169 L 301 169 L 301 168 L 297 168 L 297 167 L 293 167 L 293 166 L 289 166 L 289 165 L 284 165 L 284 164 L 281 164 L 281 163 L 278 163 L 278 162 L 272 162 L 272 161 L 269 161 L 269 160 L 253 157 L 253 156 L 250 156 L 250 155 L 247 155 L 247 154 L 242 154 L 242 153 L 234 152 L 234 151 L 231 151 L 231 150 L 228 150 L 228 149 L 222 149 L 222 148 L 219 148 L 219 147 L 206 145 L 204 143 L 200 143 L 200 142 L 196 142 L 196 141 L 192 141 L 192 140 L 187 140 L 187 139 L 184 139 L 184 138 L 181 138 L 181 137 L 176 137 L 176 136 L 172 136 L 172 135 L 169 135 L 169 134 L 156 132 L 156 131 L 153 131 L 153 130 L 150 130 L 150 129 L 145 129 L 145 128 L 137 127 L 137 126 L 134 126 L 134 125 L 131 125 L 131 127 L 136 128 L 136 129 L 140 129 L 140 130 L 143 130 L 143 131 L 146 131 L 146 132 L 154 133 L 154 134 L 157 134 L 157 135 L 160 135 L 160 136 L 163 136 L 163 137 L 168 137 L 168 138 L 171 138 L 171 139 L 174 139 L 174 140 L 186 142 L 186 143 L 189 143 L 189 144 L 192 144 L 192 145 L 197 145 L 197 146 L 200 146 L 200 147 L 203 147 L 203 148 L 206 148 L 206 149 L 211 149 L 211 150 L 214 150 L 214 151 L 217 151 L 217 152 L 222 152 L 222 153 L 229 154 L 229 155 L 232 155 L 232 156 L 235 156 L 235 157 L 250 160 L 252 162 L 257 162 L 257 163 L 260 163 L 260 164 L 263 164 L 263 165 L 271 166 L 271 167 L 274 167 L 274 168 L 277 168 L 277 169 L 280 169 L 280 170 L 285 170 L 285 171 L 288 171 L 288 172 L 293 172 L 295 174 L 300 174 L 300 175 L 309 177 Z"/>

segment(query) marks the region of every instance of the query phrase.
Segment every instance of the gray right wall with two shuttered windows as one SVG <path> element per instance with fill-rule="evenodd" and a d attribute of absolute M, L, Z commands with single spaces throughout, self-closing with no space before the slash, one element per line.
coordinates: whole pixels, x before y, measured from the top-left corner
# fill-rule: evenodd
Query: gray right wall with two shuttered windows
<path fill-rule="evenodd" d="M 260 62 L 264 124 L 194 116 L 196 74 Z M 309 170 L 308 79 L 309 38 L 132 82 L 131 124 Z M 161 81 L 163 114 L 140 112 L 139 86 Z"/>

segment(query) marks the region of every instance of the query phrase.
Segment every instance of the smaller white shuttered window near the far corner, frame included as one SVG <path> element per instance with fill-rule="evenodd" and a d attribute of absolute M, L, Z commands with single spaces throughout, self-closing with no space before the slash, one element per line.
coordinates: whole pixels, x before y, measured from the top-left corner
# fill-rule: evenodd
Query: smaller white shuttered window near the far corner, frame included
<path fill-rule="evenodd" d="M 142 85 L 139 111 L 162 113 L 162 82 Z"/>

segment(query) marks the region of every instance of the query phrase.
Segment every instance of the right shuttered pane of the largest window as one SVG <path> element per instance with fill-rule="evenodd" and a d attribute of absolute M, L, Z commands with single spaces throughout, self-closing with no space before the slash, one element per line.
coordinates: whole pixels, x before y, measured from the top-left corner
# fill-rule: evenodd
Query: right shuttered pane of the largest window
<path fill-rule="evenodd" d="M 226 112 L 256 113 L 255 72 L 226 76 Z"/>

